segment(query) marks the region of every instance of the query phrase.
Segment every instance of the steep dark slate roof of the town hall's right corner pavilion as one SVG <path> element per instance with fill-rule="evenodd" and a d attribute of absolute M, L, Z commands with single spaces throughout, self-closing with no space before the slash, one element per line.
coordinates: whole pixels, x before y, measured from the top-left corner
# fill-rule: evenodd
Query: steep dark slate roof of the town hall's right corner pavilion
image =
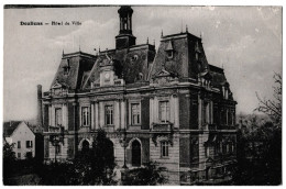
<path fill-rule="evenodd" d="M 167 55 L 169 51 L 173 52 L 172 58 Z M 197 57 L 196 54 L 198 54 Z M 208 63 L 201 38 L 188 32 L 162 37 L 150 79 L 156 77 L 156 73 L 161 70 L 172 73 L 180 80 L 196 79 L 198 75 L 209 73 L 215 87 L 227 82 L 223 69 Z"/>

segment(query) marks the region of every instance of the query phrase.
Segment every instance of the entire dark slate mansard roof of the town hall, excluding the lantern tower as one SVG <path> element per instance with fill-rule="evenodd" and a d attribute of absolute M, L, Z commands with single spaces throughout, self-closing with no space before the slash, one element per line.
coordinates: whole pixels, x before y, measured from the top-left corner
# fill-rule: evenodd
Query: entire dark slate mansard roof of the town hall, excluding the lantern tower
<path fill-rule="evenodd" d="M 168 51 L 173 52 L 172 58 L 167 56 Z M 211 75 L 215 87 L 227 84 L 223 69 L 208 64 L 201 38 L 189 33 L 179 33 L 163 36 L 157 54 L 155 47 L 148 44 L 105 51 L 98 56 L 82 52 L 65 54 L 52 86 L 59 82 L 69 89 L 88 89 L 90 82 L 99 82 L 99 65 L 108 58 L 114 60 L 116 74 L 120 75 L 119 78 L 123 77 L 128 85 L 140 79 L 150 81 L 161 70 L 166 70 L 180 80 L 196 79 L 199 74 L 207 71 Z M 69 66 L 68 75 L 64 70 L 66 66 Z"/>

